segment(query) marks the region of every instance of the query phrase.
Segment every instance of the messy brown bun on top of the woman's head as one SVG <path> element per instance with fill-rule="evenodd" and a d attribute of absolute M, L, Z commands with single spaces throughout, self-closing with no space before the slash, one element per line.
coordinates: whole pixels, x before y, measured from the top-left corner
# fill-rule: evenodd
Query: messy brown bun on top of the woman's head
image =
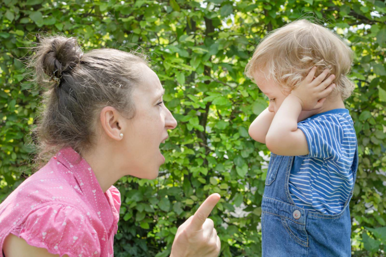
<path fill-rule="evenodd" d="M 38 82 L 58 81 L 63 73 L 71 71 L 83 56 L 77 39 L 64 36 L 38 36 L 39 43 L 35 47 L 31 66 L 36 68 Z"/>

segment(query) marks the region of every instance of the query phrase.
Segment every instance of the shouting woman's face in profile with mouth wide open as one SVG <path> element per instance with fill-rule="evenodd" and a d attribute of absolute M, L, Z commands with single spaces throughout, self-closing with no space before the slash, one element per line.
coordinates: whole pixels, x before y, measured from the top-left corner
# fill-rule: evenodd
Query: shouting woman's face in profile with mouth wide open
<path fill-rule="evenodd" d="M 164 88 L 158 76 L 146 65 L 142 68 L 142 82 L 132 94 L 135 116 L 127 119 L 123 128 L 124 153 L 130 163 L 130 175 L 155 179 L 165 162 L 160 144 L 168 138 L 177 121 L 162 102 Z M 125 162 L 124 162 L 125 163 Z"/>

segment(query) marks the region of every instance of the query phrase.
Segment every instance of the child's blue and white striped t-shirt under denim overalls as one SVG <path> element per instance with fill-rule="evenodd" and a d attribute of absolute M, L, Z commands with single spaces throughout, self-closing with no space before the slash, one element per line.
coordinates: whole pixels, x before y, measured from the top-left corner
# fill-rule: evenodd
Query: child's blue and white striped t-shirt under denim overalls
<path fill-rule="evenodd" d="M 326 214 L 339 213 L 354 186 L 352 164 L 357 150 L 348 109 L 333 109 L 298 123 L 309 154 L 296 156 L 289 175 L 295 204 Z"/>

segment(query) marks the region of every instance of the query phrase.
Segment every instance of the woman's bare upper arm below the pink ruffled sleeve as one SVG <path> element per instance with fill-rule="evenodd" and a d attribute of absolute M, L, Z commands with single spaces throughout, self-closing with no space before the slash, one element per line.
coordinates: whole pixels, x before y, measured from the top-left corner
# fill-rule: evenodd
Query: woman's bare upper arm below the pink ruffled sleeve
<path fill-rule="evenodd" d="M 29 245 L 26 240 L 10 233 L 5 241 L 3 250 L 5 257 L 59 257 L 59 254 L 51 254 L 46 248 Z M 67 254 L 62 257 L 68 257 Z"/>

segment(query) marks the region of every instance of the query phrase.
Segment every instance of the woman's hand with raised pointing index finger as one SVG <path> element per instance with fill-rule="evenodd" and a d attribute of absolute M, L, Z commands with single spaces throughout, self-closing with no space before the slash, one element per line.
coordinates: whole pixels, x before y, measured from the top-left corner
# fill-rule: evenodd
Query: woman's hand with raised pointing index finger
<path fill-rule="evenodd" d="M 209 214 L 220 200 L 219 194 L 210 195 L 182 225 L 178 227 L 170 257 L 217 257 L 221 249 L 220 238 Z"/>

